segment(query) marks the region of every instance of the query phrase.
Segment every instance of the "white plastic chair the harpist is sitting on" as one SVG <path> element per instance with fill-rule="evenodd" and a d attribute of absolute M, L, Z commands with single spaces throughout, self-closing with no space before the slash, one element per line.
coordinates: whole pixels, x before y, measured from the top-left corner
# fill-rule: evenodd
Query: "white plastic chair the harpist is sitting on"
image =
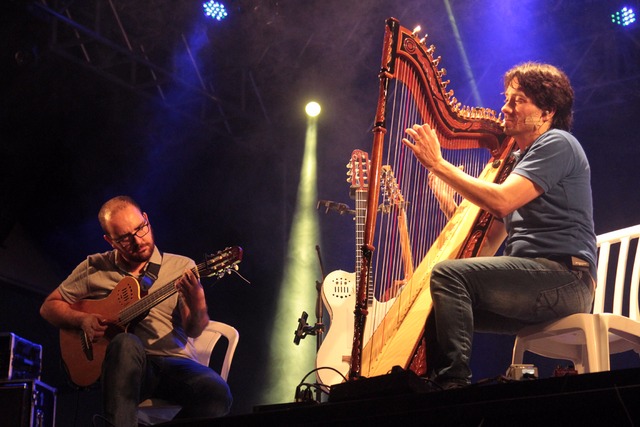
<path fill-rule="evenodd" d="M 512 364 L 522 364 L 526 351 L 537 355 L 570 360 L 578 373 L 601 372 L 611 369 L 610 355 L 634 350 L 640 354 L 640 311 L 638 288 L 640 283 L 640 225 L 623 228 L 597 237 L 597 288 L 590 314 L 570 316 L 522 329 L 513 346 Z M 633 241 L 636 241 L 632 245 Z M 611 248 L 617 246 L 617 261 Z M 629 259 L 630 249 L 635 256 Z M 608 276 L 609 267 L 615 276 Z M 632 264 L 630 264 L 632 263 Z M 632 265 L 632 267 L 631 267 Z M 626 280 L 631 268 L 631 280 Z M 613 285 L 607 293 L 607 285 Z M 623 310 L 623 301 L 628 307 Z M 605 301 L 609 300 L 605 308 Z"/>

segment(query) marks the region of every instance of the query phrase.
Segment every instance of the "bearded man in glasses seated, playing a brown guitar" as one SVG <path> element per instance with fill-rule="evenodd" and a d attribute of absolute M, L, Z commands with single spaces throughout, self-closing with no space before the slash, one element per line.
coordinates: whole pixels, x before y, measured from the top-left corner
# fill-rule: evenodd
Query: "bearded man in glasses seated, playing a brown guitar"
<path fill-rule="evenodd" d="M 40 309 L 61 328 L 71 380 L 87 386 L 101 377 L 104 417 L 112 426 L 137 426 L 137 406 L 149 397 L 182 406 L 181 418 L 226 415 L 228 385 L 187 345 L 209 322 L 194 261 L 161 253 L 147 214 L 129 197 L 107 201 L 98 219 L 113 250 L 88 256 Z M 137 303 L 148 300 L 154 302 L 137 313 Z"/>

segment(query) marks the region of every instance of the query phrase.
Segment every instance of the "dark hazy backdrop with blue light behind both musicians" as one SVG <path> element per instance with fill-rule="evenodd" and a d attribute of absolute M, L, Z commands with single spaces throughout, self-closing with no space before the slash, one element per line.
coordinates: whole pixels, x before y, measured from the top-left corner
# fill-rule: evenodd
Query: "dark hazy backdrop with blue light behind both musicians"
<path fill-rule="evenodd" d="M 502 74 L 516 63 L 564 69 L 576 91 L 574 134 L 591 162 L 596 232 L 640 222 L 640 34 L 611 24 L 622 2 L 229 4 L 228 19 L 209 25 L 194 1 L 2 2 L 0 330 L 43 344 L 43 380 L 59 389 L 65 420 L 91 413 L 95 392 L 66 385 L 57 331 L 38 307 L 87 254 L 108 249 L 96 215 L 117 194 L 138 199 L 165 251 L 199 260 L 244 248 L 240 271 L 251 285 L 206 281 L 207 298 L 211 316 L 241 335 L 229 379 L 234 413 L 271 403 L 261 396 L 269 334 L 297 321 L 271 319 L 303 107 L 312 99 L 323 107 L 318 197 L 352 203 L 345 165 L 352 150 L 370 150 L 388 17 L 422 26 L 465 105 L 499 110 Z M 322 241 L 308 244 L 321 245 L 327 272 L 352 271 L 352 221 L 323 211 L 318 219 Z M 476 380 L 504 373 L 512 342 L 477 335 Z"/>

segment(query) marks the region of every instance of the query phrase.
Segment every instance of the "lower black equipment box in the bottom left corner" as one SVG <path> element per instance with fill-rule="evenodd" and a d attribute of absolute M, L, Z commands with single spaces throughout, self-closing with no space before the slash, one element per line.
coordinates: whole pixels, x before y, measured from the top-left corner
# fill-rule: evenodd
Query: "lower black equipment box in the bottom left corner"
<path fill-rule="evenodd" d="M 1 424 L 55 427 L 56 390 L 38 380 L 0 381 Z"/>

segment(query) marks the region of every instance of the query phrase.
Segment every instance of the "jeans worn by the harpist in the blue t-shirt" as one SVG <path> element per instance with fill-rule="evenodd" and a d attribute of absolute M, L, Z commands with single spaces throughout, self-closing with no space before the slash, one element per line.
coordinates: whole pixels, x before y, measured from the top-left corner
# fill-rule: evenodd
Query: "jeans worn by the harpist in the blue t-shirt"
<path fill-rule="evenodd" d="M 427 369 L 442 384 L 471 382 L 474 331 L 516 334 L 526 325 L 588 313 L 594 296 L 588 271 L 509 256 L 442 261 L 431 272 L 430 290 Z"/>

